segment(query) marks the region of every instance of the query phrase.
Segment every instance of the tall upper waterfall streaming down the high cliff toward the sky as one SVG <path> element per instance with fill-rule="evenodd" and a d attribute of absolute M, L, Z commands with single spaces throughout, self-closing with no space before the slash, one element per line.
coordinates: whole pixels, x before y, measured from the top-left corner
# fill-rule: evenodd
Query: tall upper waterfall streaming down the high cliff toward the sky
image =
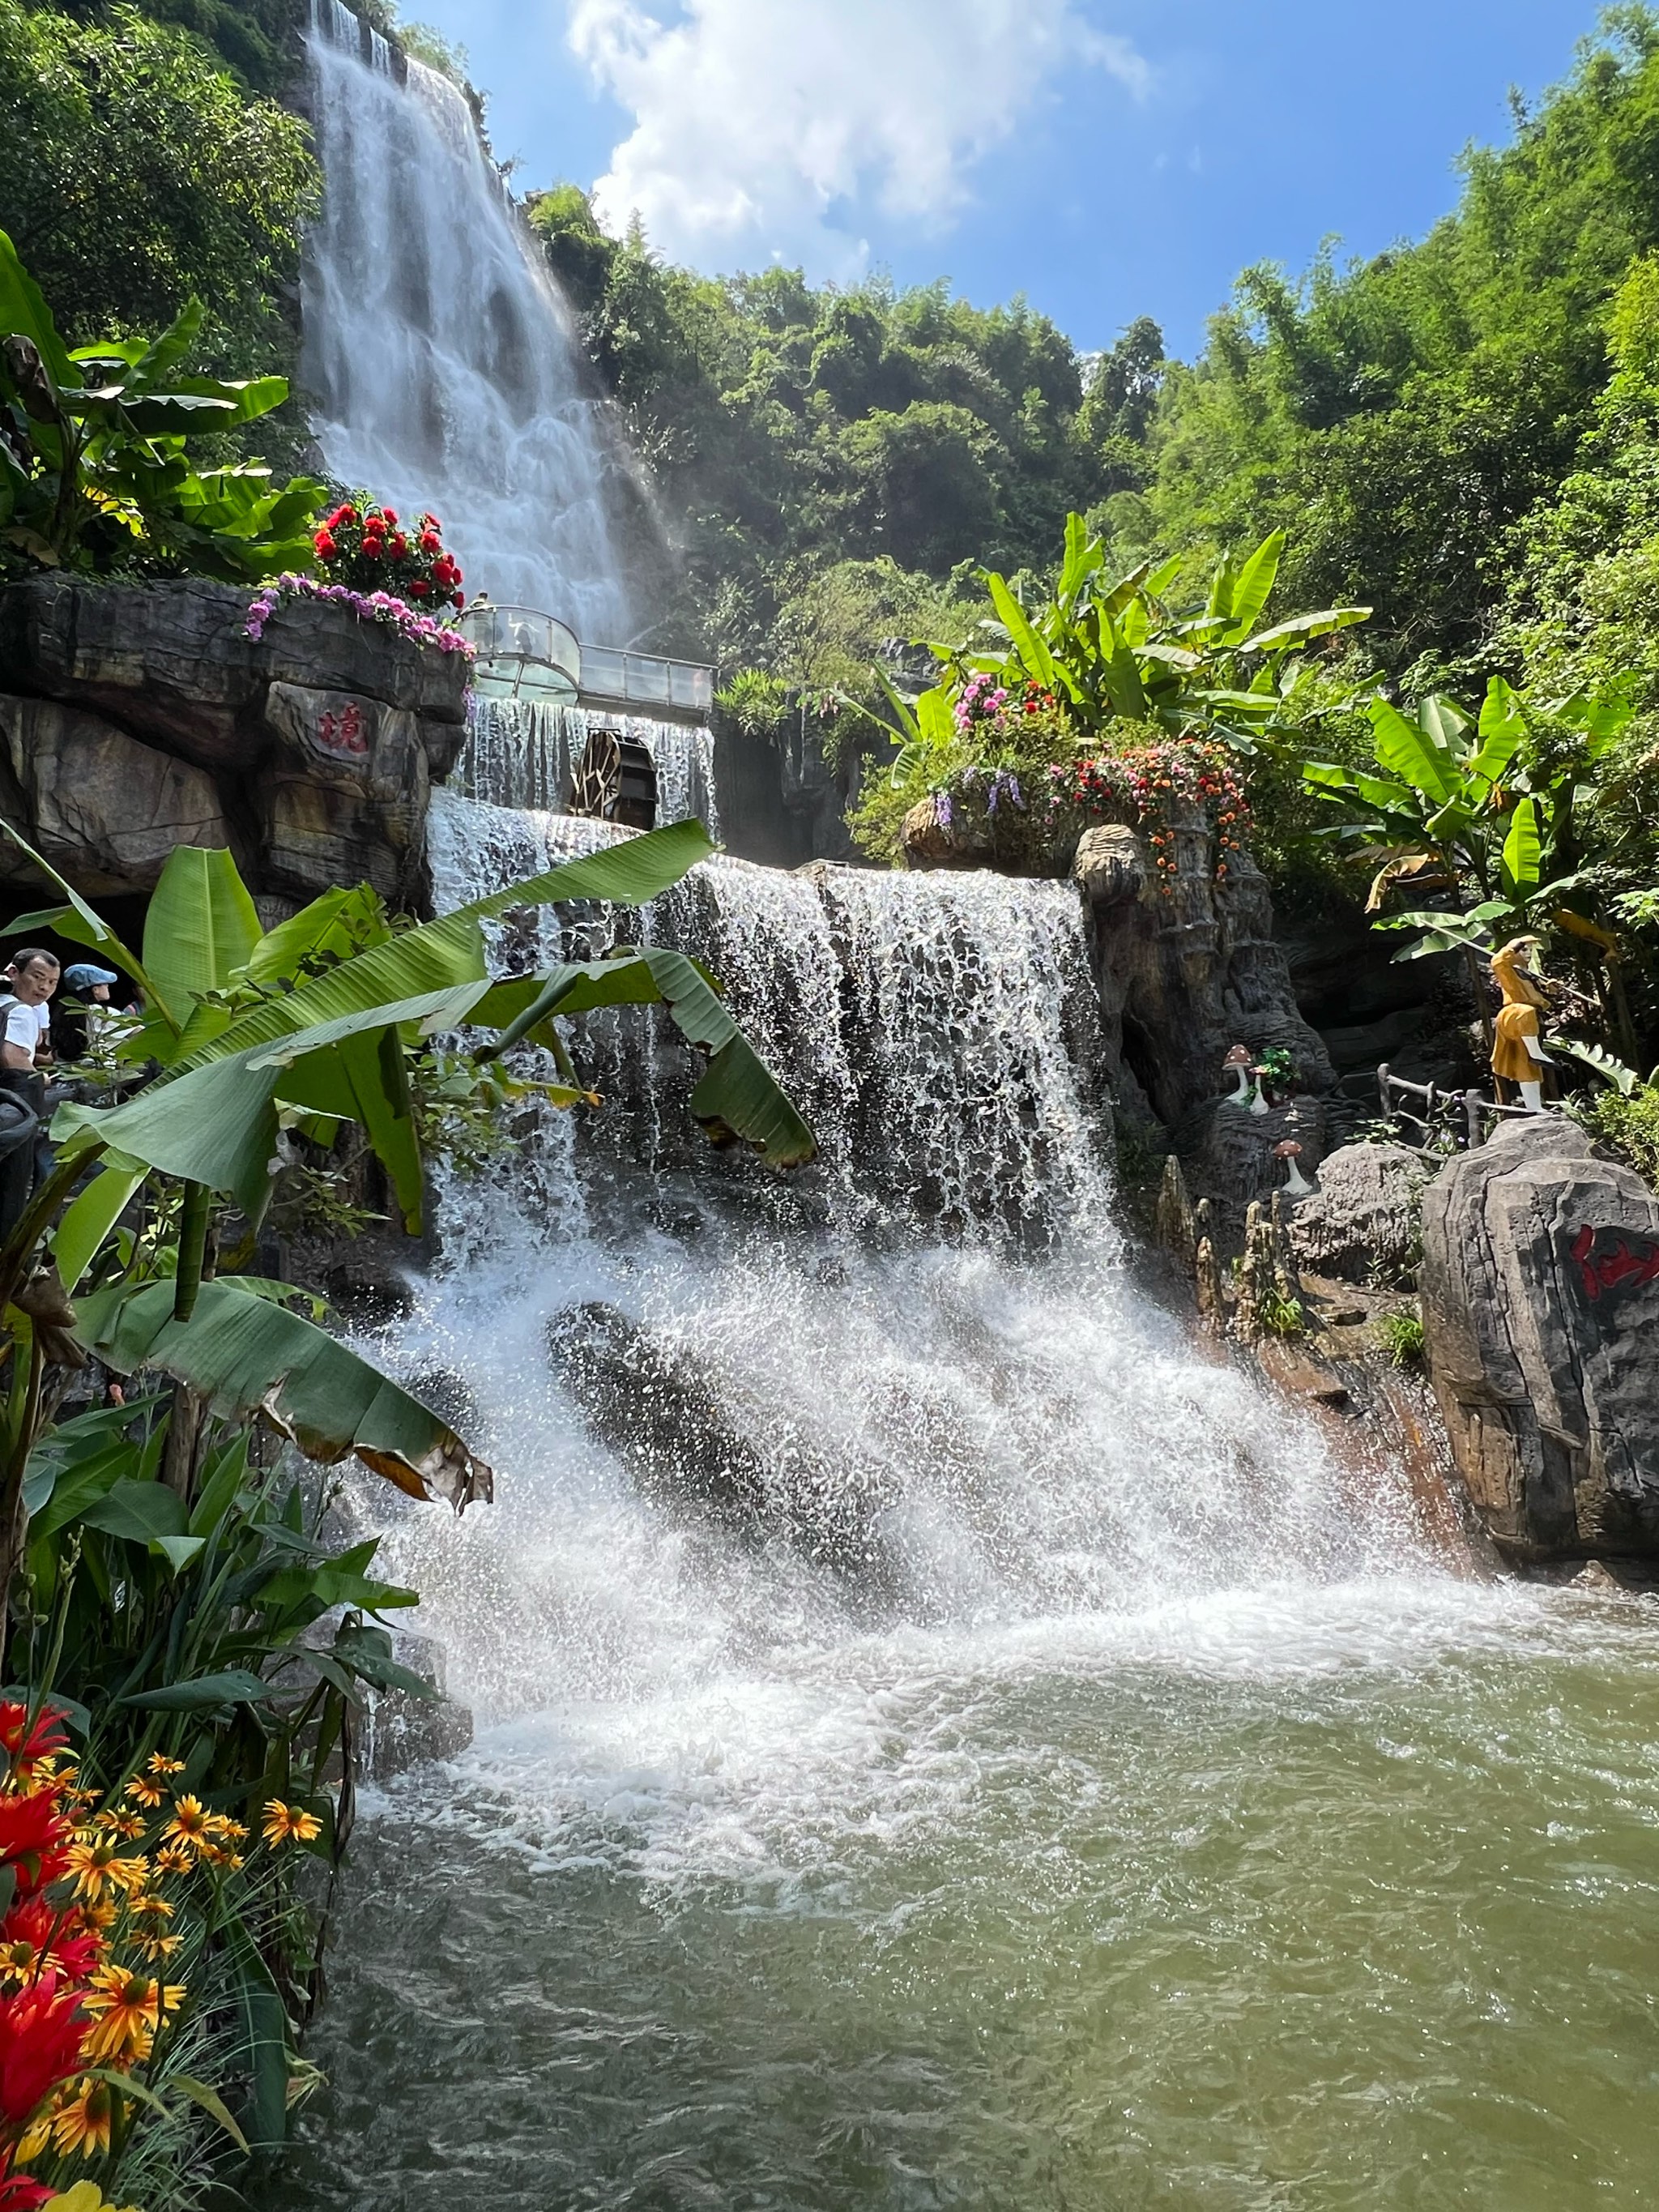
<path fill-rule="evenodd" d="M 325 195 L 303 376 L 330 473 L 431 509 L 469 591 L 626 637 L 619 462 L 467 100 L 416 60 L 400 77 L 341 0 L 312 0 L 307 51 Z"/>

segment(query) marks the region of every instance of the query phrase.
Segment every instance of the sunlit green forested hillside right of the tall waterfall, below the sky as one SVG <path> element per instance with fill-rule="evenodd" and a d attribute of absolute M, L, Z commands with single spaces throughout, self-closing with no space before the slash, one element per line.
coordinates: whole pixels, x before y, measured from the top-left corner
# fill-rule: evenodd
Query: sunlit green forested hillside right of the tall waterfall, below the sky
<path fill-rule="evenodd" d="M 1394 675 L 1630 650 L 1659 675 L 1646 7 L 1604 18 L 1511 146 L 1469 153 L 1427 239 L 1248 270 L 1194 363 L 1144 319 L 1086 365 L 1024 303 L 695 276 L 606 239 L 573 186 L 531 215 L 684 546 L 681 644 L 807 677 L 814 577 L 880 562 L 827 586 L 827 630 L 849 599 L 902 626 L 960 562 L 1051 566 L 1077 507 L 1126 562 L 1283 526 L 1287 593 L 1376 606 Z"/>

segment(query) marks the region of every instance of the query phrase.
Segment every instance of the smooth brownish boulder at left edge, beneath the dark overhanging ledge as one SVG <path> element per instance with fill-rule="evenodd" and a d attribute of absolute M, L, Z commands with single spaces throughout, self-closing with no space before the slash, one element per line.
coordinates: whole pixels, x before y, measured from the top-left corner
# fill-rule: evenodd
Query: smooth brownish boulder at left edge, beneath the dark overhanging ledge
<path fill-rule="evenodd" d="M 155 889 L 175 845 L 230 845 L 212 776 L 77 708 L 0 697 L 7 816 L 93 898 Z M 4 843 L 0 883 L 46 878 Z"/>

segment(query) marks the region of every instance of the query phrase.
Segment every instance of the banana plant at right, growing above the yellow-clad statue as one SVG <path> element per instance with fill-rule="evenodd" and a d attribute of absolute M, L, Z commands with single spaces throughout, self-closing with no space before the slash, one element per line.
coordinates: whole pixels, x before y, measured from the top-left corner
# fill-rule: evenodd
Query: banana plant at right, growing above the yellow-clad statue
<path fill-rule="evenodd" d="M 1336 836 L 1374 867 L 1376 927 L 1416 931 L 1396 960 L 1473 958 L 1546 922 L 1613 947 L 1571 905 L 1590 885 L 1573 825 L 1584 772 L 1630 721 L 1628 684 L 1540 706 L 1493 677 L 1478 714 L 1440 695 L 1409 717 L 1374 699 L 1369 714 L 1378 774 L 1305 761 L 1303 783 L 1347 812 Z M 1568 737 L 1555 765 L 1537 745 L 1544 726 Z M 1438 891 L 1447 905 L 1385 914 L 1400 889 Z"/>

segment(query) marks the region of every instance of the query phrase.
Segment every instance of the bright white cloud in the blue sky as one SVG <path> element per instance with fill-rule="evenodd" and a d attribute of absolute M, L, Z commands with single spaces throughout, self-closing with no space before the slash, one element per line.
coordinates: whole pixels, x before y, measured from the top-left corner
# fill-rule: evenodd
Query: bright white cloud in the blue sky
<path fill-rule="evenodd" d="M 613 230 L 637 212 L 672 259 L 814 274 L 858 268 L 872 210 L 942 230 L 1062 71 L 1150 84 L 1075 0 L 686 0 L 670 22 L 568 0 L 568 44 L 635 117 L 595 186 Z"/>

